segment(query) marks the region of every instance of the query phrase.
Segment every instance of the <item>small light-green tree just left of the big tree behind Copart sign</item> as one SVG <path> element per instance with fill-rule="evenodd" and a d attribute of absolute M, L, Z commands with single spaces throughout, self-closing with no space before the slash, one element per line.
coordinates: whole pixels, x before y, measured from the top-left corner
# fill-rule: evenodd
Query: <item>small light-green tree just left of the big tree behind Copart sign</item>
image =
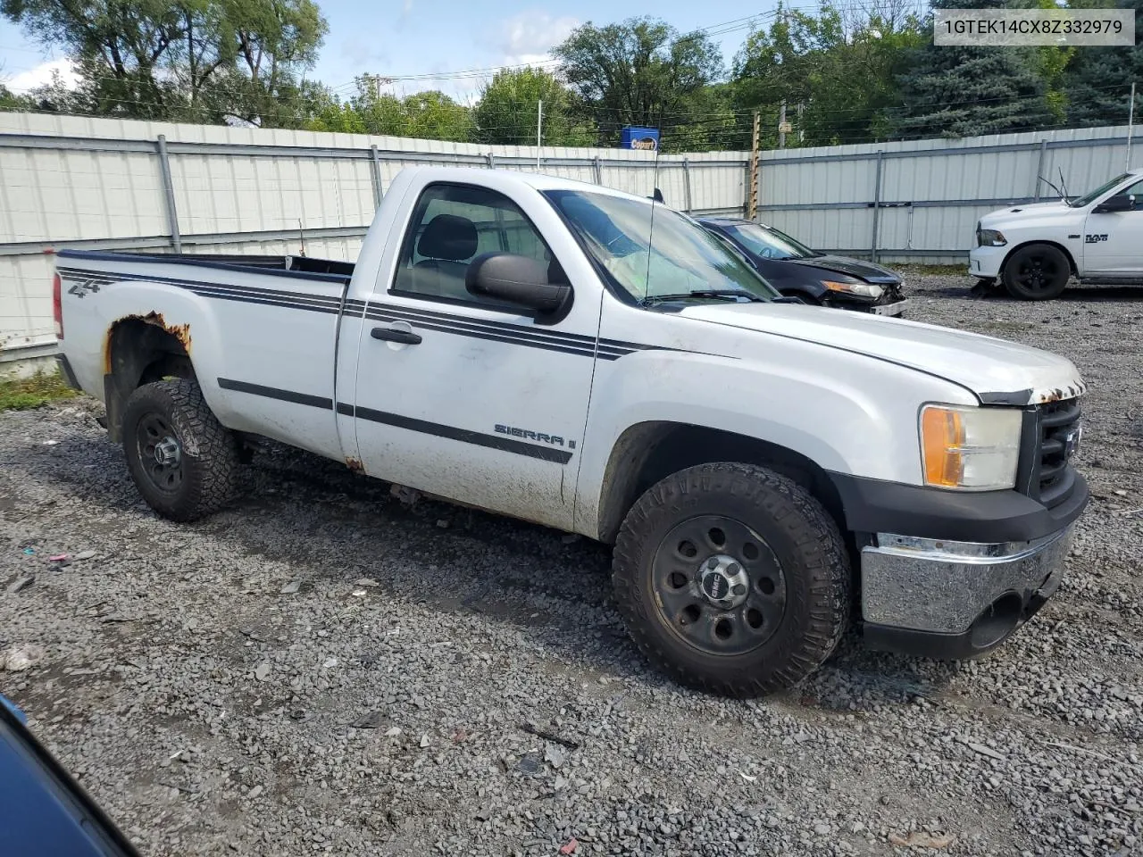
<path fill-rule="evenodd" d="M 536 142 L 537 104 L 543 101 L 543 142 L 549 146 L 590 146 L 594 126 L 576 118 L 572 94 L 541 69 L 504 69 L 485 85 L 473 110 L 474 141 L 529 145 Z"/>

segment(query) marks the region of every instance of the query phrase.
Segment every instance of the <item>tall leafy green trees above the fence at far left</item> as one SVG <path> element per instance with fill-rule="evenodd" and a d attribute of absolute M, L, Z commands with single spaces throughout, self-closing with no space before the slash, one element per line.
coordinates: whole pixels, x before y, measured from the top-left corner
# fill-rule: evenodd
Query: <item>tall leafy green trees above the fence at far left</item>
<path fill-rule="evenodd" d="M 326 33 L 313 0 L 0 0 L 0 13 L 75 66 L 74 91 L 39 93 L 97 115 L 301 123 L 301 74 Z"/>

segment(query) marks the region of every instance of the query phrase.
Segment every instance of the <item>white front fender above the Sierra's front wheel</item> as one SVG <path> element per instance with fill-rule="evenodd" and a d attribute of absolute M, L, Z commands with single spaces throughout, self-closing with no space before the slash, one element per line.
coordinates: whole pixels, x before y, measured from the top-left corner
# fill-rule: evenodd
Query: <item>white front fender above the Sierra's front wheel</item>
<path fill-rule="evenodd" d="M 577 482 L 577 531 L 596 531 L 612 452 L 641 423 L 717 428 L 783 447 L 828 473 L 920 484 L 921 405 L 976 403 L 941 378 L 810 343 L 783 341 L 770 358 L 642 351 L 601 365 Z"/>

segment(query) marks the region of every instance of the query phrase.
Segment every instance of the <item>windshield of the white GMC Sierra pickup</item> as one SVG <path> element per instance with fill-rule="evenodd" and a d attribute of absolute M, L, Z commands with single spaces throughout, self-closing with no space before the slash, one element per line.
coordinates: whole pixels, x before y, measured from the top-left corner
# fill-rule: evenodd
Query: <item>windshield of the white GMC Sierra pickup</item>
<path fill-rule="evenodd" d="M 666 296 L 726 299 L 735 294 L 762 301 L 778 297 L 733 250 L 662 203 L 582 191 L 547 191 L 546 195 L 589 253 L 637 301 Z"/>

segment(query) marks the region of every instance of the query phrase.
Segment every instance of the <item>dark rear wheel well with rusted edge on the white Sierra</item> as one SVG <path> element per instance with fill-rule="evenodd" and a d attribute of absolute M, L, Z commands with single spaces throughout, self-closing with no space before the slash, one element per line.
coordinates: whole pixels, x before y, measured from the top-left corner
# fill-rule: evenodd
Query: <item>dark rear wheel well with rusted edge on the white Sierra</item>
<path fill-rule="evenodd" d="M 185 325 L 168 327 L 158 313 L 120 319 L 107 330 L 103 386 L 112 441 L 121 439 L 123 405 L 135 390 L 162 378 L 194 377 L 190 343 Z"/>

